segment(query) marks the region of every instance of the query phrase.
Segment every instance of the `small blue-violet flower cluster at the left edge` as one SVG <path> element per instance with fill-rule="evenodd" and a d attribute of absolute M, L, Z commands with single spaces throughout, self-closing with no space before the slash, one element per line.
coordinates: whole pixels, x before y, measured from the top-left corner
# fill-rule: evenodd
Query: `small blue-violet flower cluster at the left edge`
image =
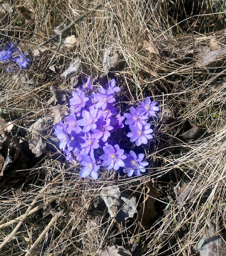
<path fill-rule="evenodd" d="M 26 69 L 29 67 L 29 58 L 26 58 L 25 52 L 19 52 L 17 47 L 11 43 L 7 49 L 0 52 L 0 60 L 2 62 L 11 62 L 18 65 L 20 68 Z"/>

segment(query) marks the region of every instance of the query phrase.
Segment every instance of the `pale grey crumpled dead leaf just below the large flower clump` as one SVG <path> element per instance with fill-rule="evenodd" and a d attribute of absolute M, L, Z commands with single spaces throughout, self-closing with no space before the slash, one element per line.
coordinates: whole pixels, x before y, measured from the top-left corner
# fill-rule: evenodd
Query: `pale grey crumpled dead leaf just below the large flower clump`
<path fill-rule="evenodd" d="M 101 190 L 101 198 L 107 205 L 108 212 L 118 223 L 125 222 L 136 213 L 136 198 L 122 193 L 119 187 Z"/>

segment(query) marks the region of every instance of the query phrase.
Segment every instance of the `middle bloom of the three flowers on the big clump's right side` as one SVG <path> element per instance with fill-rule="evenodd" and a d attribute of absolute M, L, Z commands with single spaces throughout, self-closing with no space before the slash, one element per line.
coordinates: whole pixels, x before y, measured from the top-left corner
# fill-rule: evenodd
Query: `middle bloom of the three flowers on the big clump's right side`
<path fill-rule="evenodd" d="M 124 117 L 127 118 L 125 124 L 135 124 L 141 129 L 143 125 L 147 124 L 148 114 L 140 112 L 137 108 L 130 107 L 130 113 L 125 113 Z"/>

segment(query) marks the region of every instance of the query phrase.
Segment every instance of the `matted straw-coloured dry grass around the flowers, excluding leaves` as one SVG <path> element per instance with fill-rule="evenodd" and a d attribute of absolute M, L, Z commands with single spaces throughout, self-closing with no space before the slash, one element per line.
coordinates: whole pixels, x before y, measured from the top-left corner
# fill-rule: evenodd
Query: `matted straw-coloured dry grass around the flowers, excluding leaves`
<path fill-rule="evenodd" d="M 13 12 L 1 24 L 0 40 L 2 46 L 13 41 L 24 51 L 51 37 L 54 27 L 68 25 L 98 4 L 96 0 L 24 1 L 23 6 L 33 9 L 32 22 L 21 18 L 16 4 L 11 2 Z M 15 124 L 11 135 L 25 140 L 29 139 L 29 127 L 39 118 L 48 125 L 45 139 L 51 136 L 49 87 L 57 85 L 70 94 L 71 85 L 60 74 L 72 58 L 81 59 L 83 74 L 97 78 L 104 71 L 103 51 L 107 45 L 121 55 L 123 67 L 116 68 L 115 73 L 122 86 L 121 101 L 129 103 L 153 96 L 161 113 L 170 110 L 173 116 L 173 121 L 163 124 L 159 115 L 154 141 L 144 147 L 150 168 L 140 177 L 108 172 L 100 174 L 97 181 L 90 177 L 81 180 L 76 163 L 69 165 L 51 150 L 30 160 L 25 168 L 19 166 L 13 179 L 4 177 L 0 183 L 0 256 L 97 255 L 98 248 L 107 245 L 130 249 L 138 234 L 141 243 L 133 255 L 190 256 L 208 222 L 217 223 L 225 233 L 225 67 L 210 69 L 208 76 L 193 61 L 178 61 L 188 52 L 197 53 L 213 38 L 226 47 L 222 23 L 225 13 L 217 13 L 212 7 L 215 14 L 210 14 L 210 7 L 201 7 L 201 1 L 197 1 L 199 11 L 190 13 L 186 12 L 186 1 L 179 1 L 179 5 L 178 1 L 154 2 L 107 2 L 69 31 L 79 40 L 75 52 L 63 47 L 56 52 L 57 42 L 51 42 L 45 45 L 45 54 L 35 60 L 35 72 L 30 69 L 7 73 L 5 63 L 0 63 L 0 107 L 4 118 Z M 149 54 L 139 44 L 145 28 L 155 39 L 159 56 Z M 58 73 L 40 72 L 53 54 Z M 34 83 L 21 83 L 25 75 L 33 78 Z M 188 121 L 201 131 L 190 140 L 180 136 L 189 129 Z M 155 204 L 159 214 L 151 228 L 145 230 L 136 222 L 122 234 L 108 238 L 125 229 L 125 224 L 116 224 L 105 207 L 94 209 L 94 197 L 103 187 L 119 186 L 140 199 L 140 203 L 146 184 L 152 179 L 159 193 Z M 193 186 L 191 194 L 197 193 L 178 207 L 178 190 L 187 183 Z M 169 202 L 168 211 L 163 211 Z M 58 215 L 50 214 L 54 208 L 60 212 Z"/>

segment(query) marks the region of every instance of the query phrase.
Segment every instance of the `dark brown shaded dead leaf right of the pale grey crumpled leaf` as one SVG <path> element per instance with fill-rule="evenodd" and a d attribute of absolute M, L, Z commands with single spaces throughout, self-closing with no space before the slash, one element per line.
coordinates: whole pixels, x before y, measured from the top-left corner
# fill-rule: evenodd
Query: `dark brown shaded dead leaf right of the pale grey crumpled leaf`
<path fill-rule="evenodd" d="M 138 211 L 138 221 L 145 229 L 150 228 L 150 220 L 153 220 L 158 214 L 155 210 L 154 203 L 159 195 L 156 193 L 153 181 L 147 182 L 147 187 L 147 195 L 143 203 L 139 205 L 140 209 Z"/>

